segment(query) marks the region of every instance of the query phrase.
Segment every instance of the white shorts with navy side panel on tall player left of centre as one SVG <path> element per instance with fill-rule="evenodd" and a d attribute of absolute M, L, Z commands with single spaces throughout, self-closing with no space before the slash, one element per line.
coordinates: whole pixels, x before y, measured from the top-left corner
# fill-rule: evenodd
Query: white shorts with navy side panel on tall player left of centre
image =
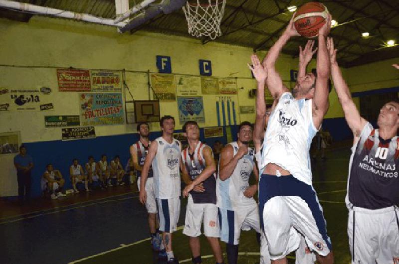
<path fill-rule="evenodd" d="M 180 216 L 180 197 L 157 199 L 159 230 L 172 233 L 177 230 Z"/>

